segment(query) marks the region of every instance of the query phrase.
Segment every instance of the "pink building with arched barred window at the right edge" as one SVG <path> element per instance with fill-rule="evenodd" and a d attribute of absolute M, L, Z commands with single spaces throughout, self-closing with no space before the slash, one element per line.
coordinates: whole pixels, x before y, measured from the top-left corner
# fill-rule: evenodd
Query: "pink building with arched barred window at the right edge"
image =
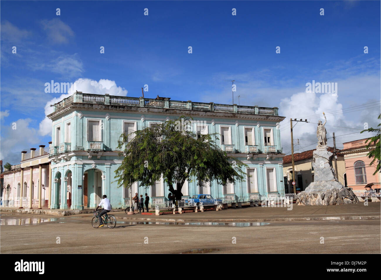
<path fill-rule="evenodd" d="M 346 186 L 351 187 L 353 190 L 365 191 L 365 186 L 369 183 L 374 183 L 372 189 L 380 188 L 380 173 L 373 173 L 376 171 L 377 160 L 370 166 L 372 158 L 368 158 L 367 154 L 375 149 L 371 145 L 369 149 L 366 148 L 365 143 L 367 139 L 360 139 L 351 142 L 343 143 L 343 150 L 340 151 L 344 155 L 345 170 L 344 180 Z"/>

